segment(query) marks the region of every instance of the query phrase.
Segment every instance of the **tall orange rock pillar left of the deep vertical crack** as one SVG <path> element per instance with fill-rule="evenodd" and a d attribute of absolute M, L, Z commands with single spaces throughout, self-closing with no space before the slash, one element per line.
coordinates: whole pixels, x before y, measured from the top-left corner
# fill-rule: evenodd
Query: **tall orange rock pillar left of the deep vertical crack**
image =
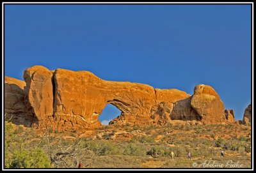
<path fill-rule="evenodd" d="M 36 115 L 39 126 L 47 126 L 53 115 L 52 72 L 44 66 L 32 66 L 24 71 L 23 77 L 28 96 L 27 109 Z"/>

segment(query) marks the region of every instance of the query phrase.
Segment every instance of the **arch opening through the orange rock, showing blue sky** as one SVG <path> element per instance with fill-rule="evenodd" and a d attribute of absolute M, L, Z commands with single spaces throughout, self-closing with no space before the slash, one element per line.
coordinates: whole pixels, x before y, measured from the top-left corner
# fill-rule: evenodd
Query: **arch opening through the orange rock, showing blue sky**
<path fill-rule="evenodd" d="M 99 121 L 102 125 L 108 125 L 112 119 L 120 116 L 121 113 L 122 111 L 115 107 L 115 105 L 108 103 L 99 115 Z"/>

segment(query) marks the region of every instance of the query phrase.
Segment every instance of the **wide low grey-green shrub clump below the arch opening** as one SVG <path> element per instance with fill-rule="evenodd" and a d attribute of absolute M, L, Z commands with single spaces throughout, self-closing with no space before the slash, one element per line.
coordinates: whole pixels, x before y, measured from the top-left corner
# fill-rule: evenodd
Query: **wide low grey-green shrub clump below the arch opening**
<path fill-rule="evenodd" d="M 116 155 L 122 151 L 109 140 L 93 140 L 84 143 L 84 148 L 93 151 L 98 156 Z"/>

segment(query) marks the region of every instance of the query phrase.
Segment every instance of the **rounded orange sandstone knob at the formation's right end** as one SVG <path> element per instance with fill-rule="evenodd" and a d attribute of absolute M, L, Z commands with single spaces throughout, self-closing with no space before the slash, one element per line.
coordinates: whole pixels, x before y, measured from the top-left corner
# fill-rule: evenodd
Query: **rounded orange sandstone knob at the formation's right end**
<path fill-rule="evenodd" d="M 196 110 L 204 124 L 225 122 L 224 104 L 211 86 L 204 84 L 195 86 L 191 106 Z"/>

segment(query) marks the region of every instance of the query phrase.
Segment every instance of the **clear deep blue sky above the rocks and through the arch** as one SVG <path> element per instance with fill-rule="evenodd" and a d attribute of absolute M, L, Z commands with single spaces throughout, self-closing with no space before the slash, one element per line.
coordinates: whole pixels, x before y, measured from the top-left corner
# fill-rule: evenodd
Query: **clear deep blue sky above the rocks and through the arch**
<path fill-rule="evenodd" d="M 4 10 L 6 76 L 22 79 L 26 68 L 40 64 L 189 94 L 207 84 L 236 119 L 251 103 L 250 5 L 22 4 Z"/>

